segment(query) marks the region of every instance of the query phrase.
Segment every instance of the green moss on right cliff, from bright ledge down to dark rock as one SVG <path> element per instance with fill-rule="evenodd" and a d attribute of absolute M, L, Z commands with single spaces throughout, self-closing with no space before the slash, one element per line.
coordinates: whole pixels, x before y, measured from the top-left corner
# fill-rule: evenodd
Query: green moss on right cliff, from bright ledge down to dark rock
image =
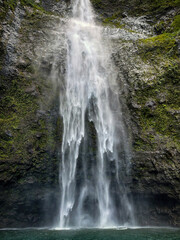
<path fill-rule="evenodd" d="M 135 101 L 141 134 L 136 139 L 136 150 L 175 147 L 180 149 L 178 112 L 180 111 L 180 60 L 177 39 L 179 32 L 163 33 L 140 40 L 139 55 L 154 67 L 154 78 L 139 82 Z M 148 73 L 146 73 L 148 74 Z M 153 101 L 153 106 L 148 102 Z"/>

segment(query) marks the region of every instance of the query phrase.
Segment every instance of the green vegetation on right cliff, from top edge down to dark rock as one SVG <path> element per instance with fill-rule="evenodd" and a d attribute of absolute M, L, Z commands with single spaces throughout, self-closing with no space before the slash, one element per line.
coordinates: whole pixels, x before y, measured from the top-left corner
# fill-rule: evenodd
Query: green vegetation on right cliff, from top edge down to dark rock
<path fill-rule="evenodd" d="M 141 129 L 134 147 L 138 151 L 160 148 L 179 151 L 180 1 L 92 0 L 92 3 L 105 25 L 133 32 L 124 19 L 143 17 L 152 26 L 153 36 L 136 42 L 138 55 L 154 71 L 146 73 L 153 74 L 151 80 L 146 82 L 145 76 L 132 86 L 134 94 L 129 102 L 139 106 L 132 110 L 132 115 Z"/>

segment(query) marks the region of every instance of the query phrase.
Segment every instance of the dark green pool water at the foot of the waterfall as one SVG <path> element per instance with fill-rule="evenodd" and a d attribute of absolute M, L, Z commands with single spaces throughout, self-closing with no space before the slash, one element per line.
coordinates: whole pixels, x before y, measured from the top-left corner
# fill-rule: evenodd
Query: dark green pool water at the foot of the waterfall
<path fill-rule="evenodd" d="M 0 240 L 180 240 L 180 230 L 2 230 Z"/>

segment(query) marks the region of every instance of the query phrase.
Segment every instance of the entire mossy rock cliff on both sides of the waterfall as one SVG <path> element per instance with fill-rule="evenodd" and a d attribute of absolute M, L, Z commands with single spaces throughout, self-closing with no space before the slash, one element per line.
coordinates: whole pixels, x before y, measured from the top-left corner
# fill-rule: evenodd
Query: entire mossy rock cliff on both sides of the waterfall
<path fill-rule="evenodd" d="M 140 224 L 180 226 L 179 1 L 92 0 L 112 42 L 132 135 L 129 195 Z M 0 227 L 45 226 L 58 213 L 62 119 L 50 80 L 70 1 L 0 1 Z M 59 46 L 53 46 L 61 29 Z M 51 44 L 49 44 L 51 43 Z"/>

